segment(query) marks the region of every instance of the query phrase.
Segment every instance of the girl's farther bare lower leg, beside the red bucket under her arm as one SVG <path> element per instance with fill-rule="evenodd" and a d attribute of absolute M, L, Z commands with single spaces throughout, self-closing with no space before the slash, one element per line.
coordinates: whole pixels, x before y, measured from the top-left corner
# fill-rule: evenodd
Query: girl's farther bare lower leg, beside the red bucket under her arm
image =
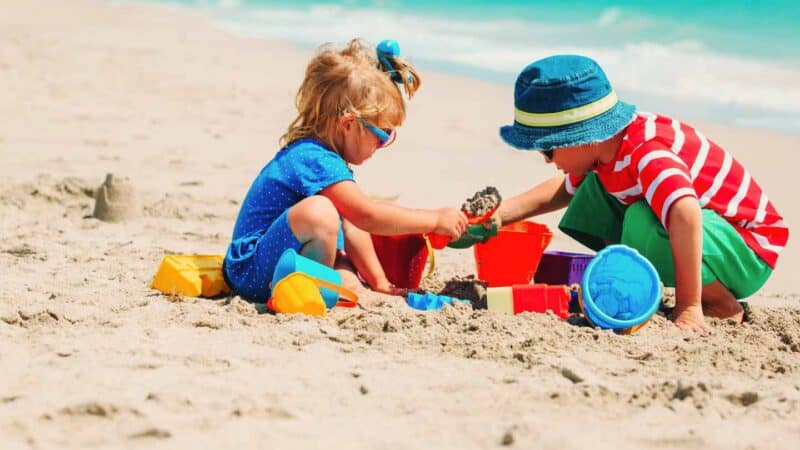
<path fill-rule="evenodd" d="M 372 238 L 369 233 L 353 225 L 350 221 L 343 221 L 344 246 L 350 262 L 356 266 L 358 273 L 364 277 L 369 287 L 378 292 L 391 295 L 403 294 L 403 289 L 397 288 L 386 278 Z"/>

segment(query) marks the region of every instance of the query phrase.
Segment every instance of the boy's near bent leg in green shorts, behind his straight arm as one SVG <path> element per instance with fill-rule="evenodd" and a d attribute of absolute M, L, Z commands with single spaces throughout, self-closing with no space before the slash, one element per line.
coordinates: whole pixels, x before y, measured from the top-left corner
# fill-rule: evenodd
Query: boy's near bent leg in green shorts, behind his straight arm
<path fill-rule="evenodd" d="M 625 212 L 621 242 L 647 258 L 665 286 L 675 286 L 669 235 L 645 201 Z M 742 309 L 736 299 L 755 293 L 772 270 L 747 247 L 732 225 L 716 212 L 704 209 L 701 272 L 705 315 L 741 319 Z"/>

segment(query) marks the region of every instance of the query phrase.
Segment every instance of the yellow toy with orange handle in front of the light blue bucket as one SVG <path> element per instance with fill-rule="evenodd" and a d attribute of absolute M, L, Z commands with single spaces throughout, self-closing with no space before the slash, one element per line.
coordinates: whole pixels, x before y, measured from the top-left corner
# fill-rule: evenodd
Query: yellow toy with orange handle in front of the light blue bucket
<path fill-rule="evenodd" d="M 302 313 L 310 316 L 324 316 L 328 305 L 319 291 L 324 287 L 339 294 L 336 304 L 330 307 L 354 307 L 358 296 L 342 287 L 319 278 L 310 277 L 302 272 L 293 272 L 283 277 L 272 287 L 272 298 L 269 307 L 282 314 Z"/>

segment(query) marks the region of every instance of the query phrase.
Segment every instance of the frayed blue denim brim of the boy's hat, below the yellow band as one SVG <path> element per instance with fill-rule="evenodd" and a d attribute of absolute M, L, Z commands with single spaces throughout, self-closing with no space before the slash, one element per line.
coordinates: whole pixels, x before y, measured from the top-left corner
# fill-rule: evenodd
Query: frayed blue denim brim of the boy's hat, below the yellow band
<path fill-rule="evenodd" d="M 528 127 L 518 122 L 500 127 L 500 137 L 519 150 L 555 150 L 602 142 L 614 137 L 634 118 L 636 107 L 617 102 L 613 108 L 583 122 L 560 127 Z"/>

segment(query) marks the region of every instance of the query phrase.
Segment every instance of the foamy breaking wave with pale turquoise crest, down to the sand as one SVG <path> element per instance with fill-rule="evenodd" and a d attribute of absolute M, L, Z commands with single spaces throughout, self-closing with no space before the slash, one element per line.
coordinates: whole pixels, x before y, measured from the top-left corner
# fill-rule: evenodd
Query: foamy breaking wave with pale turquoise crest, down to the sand
<path fill-rule="evenodd" d="M 508 14 L 453 18 L 413 12 L 414 8 L 407 12 L 336 4 L 187 2 L 214 8 L 217 24 L 234 32 L 307 48 L 355 36 L 372 42 L 392 38 L 423 69 L 503 83 L 513 83 L 519 71 L 536 59 L 583 54 L 603 66 L 624 99 L 649 110 L 800 131 L 798 60 L 722 52 L 706 45 L 711 42 L 708 35 L 685 29 L 667 39 L 662 30 L 675 31 L 679 27 L 674 22 L 616 6 L 591 20 L 558 22 Z"/>

